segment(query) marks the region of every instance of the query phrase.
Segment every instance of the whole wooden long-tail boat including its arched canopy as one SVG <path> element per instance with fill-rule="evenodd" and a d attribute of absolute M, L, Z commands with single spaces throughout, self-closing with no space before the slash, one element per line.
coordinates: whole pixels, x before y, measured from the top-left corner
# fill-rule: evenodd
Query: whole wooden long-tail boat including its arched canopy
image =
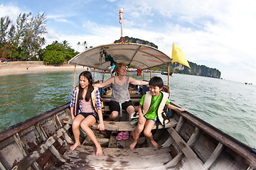
<path fill-rule="evenodd" d="M 70 64 L 100 70 L 110 67 L 111 62 L 124 62 L 143 71 L 164 64 L 169 66 L 171 58 L 154 47 L 117 42 L 93 47 L 69 61 Z M 110 115 L 110 89 L 102 89 L 104 118 Z M 129 90 L 137 110 L 147 87 L 131 86 Z M 165 90 L 169 91 L 169 80 Z M 218 130 L 193 113 L 171 111 L 169 123 L 164 127 L 154 127 L 152 133 L 159 144 L 158 148 L 152 147 L 143 134 L 134 149 L 129 149 L 133 142 L 132 137 L 127 140 L 116 139 L 118 132 L 130 132 L 136 128 L 129 123 L 125 111 L 122 117 L 115 121 L 105 120 L 104 123 L 104 131 L 97 130 L 97 125 L 91 127 L 102 145 L 101 157 L 95 156 L 95 146 L 82 130 L 82 145 L 70 151 L 74 137 L 69 103 L 1 130 L 0 168 L 256 169 L 255 149 Z"/>

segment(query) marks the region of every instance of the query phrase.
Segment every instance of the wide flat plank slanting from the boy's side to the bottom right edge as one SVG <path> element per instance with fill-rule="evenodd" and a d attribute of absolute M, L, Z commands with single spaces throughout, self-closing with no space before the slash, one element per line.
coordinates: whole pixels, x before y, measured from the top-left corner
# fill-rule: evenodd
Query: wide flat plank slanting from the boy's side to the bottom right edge
<path fill-rule="evenodd" d="M 205 169 L 203 166 L 203 163 L 200 159 L 196 156 L 196 154 L 193 152 L 193 150 L 188 146 L 188 144 L 181 138 L 180 135 L 174 130 L 174 128 L 168 128 L 168 132 L 170 133 L 171 137 L 174 138 L 176 144 L 178 147 L 181 148 L 183 154 L 188 159 L 188 162 L 191 166 L 191 169 Z"/>

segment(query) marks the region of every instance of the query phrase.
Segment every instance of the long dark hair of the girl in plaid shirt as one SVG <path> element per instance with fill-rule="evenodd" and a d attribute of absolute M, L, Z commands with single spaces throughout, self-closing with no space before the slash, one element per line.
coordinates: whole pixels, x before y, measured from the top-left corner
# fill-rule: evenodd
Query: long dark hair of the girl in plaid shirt
<path fill-rule="evenodd" d="M 79 81 L 80 81 L 80 77 L 83 76 L 85 78 L 87 78 L 87 80 L 89 81 L 89 86 L 88 86 L 88 89 L 87 89 L 87 94 L 85 95 L 85 101 L 89 101 L 90 98 L 91 98 L 91 93 L 92 91 L 94 90 L 94 87 L 92 86 L 92 74 L 90 72 L 82 72 L 80 75 L 79 75 Z M 82 91 L 84 89 L 82 89 L 81 85 L 79 84 L 79 93 L 78 93 L 78 99 L 79 100 L 82 100 Z"/>

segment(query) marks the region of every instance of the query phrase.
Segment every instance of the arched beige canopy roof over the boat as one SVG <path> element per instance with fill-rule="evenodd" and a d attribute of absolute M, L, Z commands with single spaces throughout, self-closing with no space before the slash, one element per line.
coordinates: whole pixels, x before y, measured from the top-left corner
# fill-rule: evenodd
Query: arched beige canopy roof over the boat
<path fill-rule="evenodd" d="M 92 47 L 68 61 L 68 64 L 82 65 L 106 70 L 115 63 L 124 62 L 138 69 L 150 69 L 171 64 L 171 57 L 148 45 L 119 42 Z"/>

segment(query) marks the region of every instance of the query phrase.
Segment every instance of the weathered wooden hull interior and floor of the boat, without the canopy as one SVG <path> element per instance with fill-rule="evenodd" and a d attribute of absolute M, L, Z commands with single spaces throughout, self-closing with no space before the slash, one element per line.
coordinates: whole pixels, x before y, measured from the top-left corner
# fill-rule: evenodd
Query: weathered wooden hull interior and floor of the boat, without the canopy
<path fill-rule="evenodd" d="M 133 142 L 116 140 L 119 131 L 134 130 L 129 122 L 105 121 L 106 130 L 92 126 L 104 154 L 95 156 L 93 143 L 81 132 L 78 149 L 69 104 L 18 123 L 0 134 L 0 169 L 248 169 L 256 167 L 250 147 L 191 115 L 174 111 L 166 129 L 152 130 L 159 148 L 142 134 Z M 124 114 L 127 119 L 127 114 Z"/>

